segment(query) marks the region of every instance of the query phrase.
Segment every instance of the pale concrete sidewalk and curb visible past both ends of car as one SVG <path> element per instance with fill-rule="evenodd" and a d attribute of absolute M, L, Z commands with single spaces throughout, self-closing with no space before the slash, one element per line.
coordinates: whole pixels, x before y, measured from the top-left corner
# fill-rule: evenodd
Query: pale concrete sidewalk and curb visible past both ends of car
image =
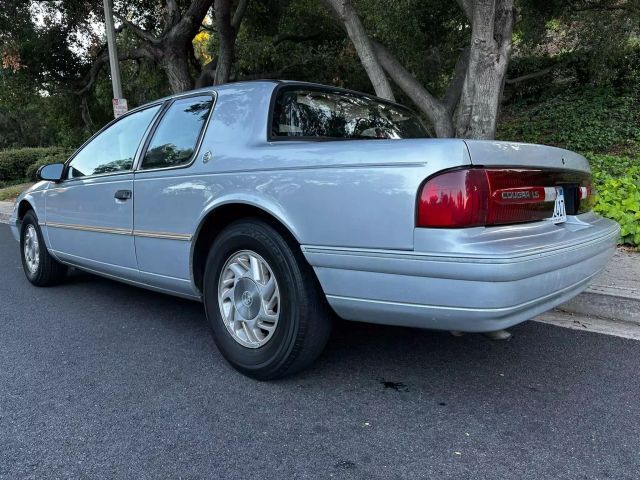
<path fill-rule="evenodd" d="M 0 202 L 0 223 L 7 223 L 13 202 Z M 559 310 L 640 325 L 640 253 L 619 248 L 593 284 Z"/>

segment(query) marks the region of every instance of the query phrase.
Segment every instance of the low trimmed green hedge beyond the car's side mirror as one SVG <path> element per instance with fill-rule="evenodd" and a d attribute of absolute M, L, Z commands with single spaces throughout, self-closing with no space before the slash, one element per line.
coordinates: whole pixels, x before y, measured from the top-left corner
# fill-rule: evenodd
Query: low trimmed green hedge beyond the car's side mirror
<path fill-rule="evenodd" d="M 0 182 L 35 180 L 40 165 L 62 163 L 69 153 L 60 147 L 0 150 Z"/>

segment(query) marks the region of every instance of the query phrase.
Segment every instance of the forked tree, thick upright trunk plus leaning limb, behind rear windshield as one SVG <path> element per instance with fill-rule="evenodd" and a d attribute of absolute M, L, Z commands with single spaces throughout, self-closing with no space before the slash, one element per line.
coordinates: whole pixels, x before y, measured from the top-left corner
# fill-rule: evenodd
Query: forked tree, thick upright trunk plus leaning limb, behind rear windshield
<path fill-rule="evenodd" d="M 360 49 L 360 58 L 364 56 L 366 61 L 375 63 L 367 55 L 367 45 L 372 46 L 379 65 L 430 120 L 437 136 L 495 137 L 500 94 L 511 53 L 515 21 L 513 0 L 458 0 L 471 26 L 471 38 L 469 45 L 460 53 L 442 98 L 437 98 L 425 88 L 384 45 L 372 40 L 364 29 L 347 27 L 347 22 L 359 22 L 353 20 L 357 13 L 351 0 L 325 0 L 325 4 L 342 21 L 356 50 Z M 349 15 L 344 12 L 349 12 Z M 363 41 L 363 36 L 368 42 Z M 365 69 L 369 73 L 370 69 Z M 378 92 L 376 85 L 382 83 L 379 76 L 369 76 Z"/>

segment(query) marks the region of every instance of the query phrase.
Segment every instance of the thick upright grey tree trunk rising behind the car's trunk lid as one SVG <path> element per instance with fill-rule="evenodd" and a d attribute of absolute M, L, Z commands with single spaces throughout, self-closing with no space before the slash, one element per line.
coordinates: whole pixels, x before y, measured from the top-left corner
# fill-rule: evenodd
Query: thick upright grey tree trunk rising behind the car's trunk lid
<path fill-rule="evenodd" d="M 513 0 L 475 0 L 469 65 L 460 96 L 456 136 L 493 139 L 511 54 Z"/>

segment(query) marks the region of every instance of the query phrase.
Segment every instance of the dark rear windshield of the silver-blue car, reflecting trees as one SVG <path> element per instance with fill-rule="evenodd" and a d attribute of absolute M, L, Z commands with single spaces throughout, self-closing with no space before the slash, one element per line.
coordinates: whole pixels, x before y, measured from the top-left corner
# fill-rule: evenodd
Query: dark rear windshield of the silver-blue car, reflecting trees
<path fill-rule="evenodd" d="M 273 106 L 271 137 L 296 139 L 399 139 L 429 134 L 410 110 L 366 95 L 283 88 Z"/>

